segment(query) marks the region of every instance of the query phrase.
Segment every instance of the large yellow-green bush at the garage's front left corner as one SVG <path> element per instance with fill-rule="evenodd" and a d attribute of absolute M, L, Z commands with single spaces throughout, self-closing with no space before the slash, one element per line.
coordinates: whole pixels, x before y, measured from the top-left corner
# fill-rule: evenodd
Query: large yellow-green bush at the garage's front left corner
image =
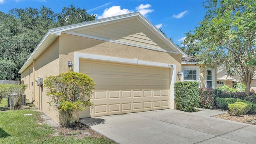
<path fill-rule="evenodd" d="M 60 118 L 64 118 L 61 114 L 68 116 L 62 120 L 64 125 L 73 122 L 78 110 L 93 105 L 90 100 L 95 83 L 86 74 L 70 71 L 58 76 L 48 76 L 44 80 L 44 86 L 47 88 L 46 95 L 50 98 L 50 106 L 58 108 Z"/>

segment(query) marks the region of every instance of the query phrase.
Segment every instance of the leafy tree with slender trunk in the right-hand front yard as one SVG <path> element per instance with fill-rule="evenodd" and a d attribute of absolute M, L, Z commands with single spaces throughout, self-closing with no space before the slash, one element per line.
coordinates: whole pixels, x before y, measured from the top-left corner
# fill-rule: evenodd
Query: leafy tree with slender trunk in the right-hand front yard
<path fill-rule="evenodd" d="M 226 70 L 242 78 L 246 94 L 256 72 L 256 1 L 207 0 L 207 12 L 196 30 L 187 34 L 184 43 L 200 62 Z"/>

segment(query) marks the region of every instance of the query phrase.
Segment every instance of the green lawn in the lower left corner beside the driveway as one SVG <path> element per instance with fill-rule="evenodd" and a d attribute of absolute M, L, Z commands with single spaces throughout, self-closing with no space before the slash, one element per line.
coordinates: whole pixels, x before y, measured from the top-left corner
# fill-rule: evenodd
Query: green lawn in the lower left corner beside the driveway
<path fill-rule="evenodd" d="M 102 138 L 53 136 L 55 132 L 51 126 L 38 124 L 39 114 L 40 112 L 33 110 L 0 112 L 0 144 L 114 144 Z"/>

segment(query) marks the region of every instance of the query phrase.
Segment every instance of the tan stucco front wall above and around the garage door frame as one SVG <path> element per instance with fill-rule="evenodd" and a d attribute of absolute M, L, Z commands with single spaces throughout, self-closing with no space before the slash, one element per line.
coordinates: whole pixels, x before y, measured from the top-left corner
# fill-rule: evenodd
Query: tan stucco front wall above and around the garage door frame
<path fill-rule="evenodd" d="M 145 48 L 138 48 L 114 42 L 106 42 L 92 38 L 61 34 L 60 72 L 66 72 L 68 70 L 67 62 L 69 60 L 72 60 L 72 62 L 74 61 L 74 52 L 129 59 L 138 58 L 138 60 L 176 64 L 176 71 L 181 71 L 180 54 L 159 52 L 155 50 L 148 50 Z"/>

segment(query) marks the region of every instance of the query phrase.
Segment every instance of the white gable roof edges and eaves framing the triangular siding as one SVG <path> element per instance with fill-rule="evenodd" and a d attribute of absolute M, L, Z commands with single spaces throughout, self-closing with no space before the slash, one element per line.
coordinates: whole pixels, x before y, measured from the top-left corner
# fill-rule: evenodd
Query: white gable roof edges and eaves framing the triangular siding
<path fill-rule="evenodd" d="M 89 22 L 82 22 L 82 23 L 78 23 L 78 24 L 72 24 L 69 26 L 52 28 L 52 29 L 48 30 L 48 32 L 44 35 L 42 40 L 39 42 L 39 44 L 36 46 L 36 48 L 34 49 L 32 54 L 30 55 L 30 57 L 26 60 L 26 62 L 22 66 L 22 68 L 20 68 L 18 73 L 22 73 L 30 64 L 32 64 L 33 60 L 38 58 L 38 56 L 40 56 L 40 54 L 42 54 L 42 52 L 44 52 L 44 50 L 46 50 L 46 48 L 48 48 L 50 46 L 50 44 L 52 44 L 61 35 L 61 33 L 73 34 L 73 35 L 78 35 L 78 36 L 82 35 L 82 36 L 86 36 L 89 38 L 96 38 L 96 39 L 106 40 L 106 41 L 110 41 L 110 42 L 118 42 L 118 43 L 128 44 L 128 43 L 118 41 L 118 40 L 98 38 L 96 36 L 79 34 L 77 32 L 79 32 L 81 30 L 89 29 L 89 28 L 95 28 L 95 27 L 104 26 L 107 24 L 113 24 L 113 23 L 123 22 L 126 20 L 132 20 L 132 19 L 139 20 L 139 22 L 141 22 L 154 35 L 156 35 L 160 40 L 162 40 L 163 43 L 166 44 L 166 46 L 169 46 L 170 50 L 165 50 L 165 49 L 161 50 L 161 49 L 150 47 L 150 46 L 149 47 L 141 46 L 140 44 L 131 44 L 131 45 L 139 46 L 142 48 L 149 48 L 152 50 L 160 50 L 163 52 L 181 54 L 183 58 L 187 57 L 187 55 L 180 48 L 178 48 L 178 46 L 176 46 L 176 44 L 174 44 L 174 42 L 172 42 L 162 32 L 160 32 L 160 30 L 158 30 L 154 25 L 152 25 L 144 16 L 142 16 L 142 14 L 140 14 L 139 12 L 134 12 L 134 13 L 130 13 L 130 14 L 113 16 L 113 17 L 109 17 L 109 18 L 102 18 L 102 19 L 98 19 L 98 20 L 92 20 Z"/>

